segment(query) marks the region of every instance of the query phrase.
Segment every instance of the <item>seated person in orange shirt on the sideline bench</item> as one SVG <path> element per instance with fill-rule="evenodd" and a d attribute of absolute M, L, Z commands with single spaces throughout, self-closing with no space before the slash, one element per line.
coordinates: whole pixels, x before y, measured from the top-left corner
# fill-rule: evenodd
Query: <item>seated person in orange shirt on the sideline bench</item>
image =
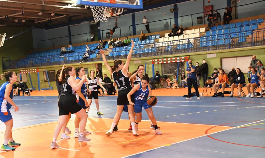
<path fill-rule="evenodd" d="M 217 97 L 217 94 L 216 94 L 217 93 L 217 90 L 216 90 L 217 87 L 222 88 L 222 95 L 221 95 L 221 97 L 224 97 L 224 88 L 229 87 L 229 80 L 228 80 L 228 77 L 225 74 L 224 70 L 221 69 L 219 71 L 219 74 L 220 74 L 218 76 L 219 81 L 218 81 L 217 84 L 214 84 L 214 95 L 212 97 Z"/>

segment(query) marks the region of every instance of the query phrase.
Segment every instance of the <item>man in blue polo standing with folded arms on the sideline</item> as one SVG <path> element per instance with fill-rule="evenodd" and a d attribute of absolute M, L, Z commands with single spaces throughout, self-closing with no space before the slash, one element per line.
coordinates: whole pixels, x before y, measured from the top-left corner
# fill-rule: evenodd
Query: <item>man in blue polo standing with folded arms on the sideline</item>
<path fill-rule="evenodd" d="M 188 99 L 192 99 L 192 85 L 195 89 L 197 99 L 201 99 L 199 96 L 199 90 L 198 90 L 198 84 L 197 84 L 197 78 L 196 78 L 196 73 L 195 73 L 195 66 L 192 65 L 192 60 L 188 61 L 189 67 L 186 69 L 186 74 L 187 74 L 187 84 L 188 84 L 188 89 L 189 89 L 189 94 Z"/>

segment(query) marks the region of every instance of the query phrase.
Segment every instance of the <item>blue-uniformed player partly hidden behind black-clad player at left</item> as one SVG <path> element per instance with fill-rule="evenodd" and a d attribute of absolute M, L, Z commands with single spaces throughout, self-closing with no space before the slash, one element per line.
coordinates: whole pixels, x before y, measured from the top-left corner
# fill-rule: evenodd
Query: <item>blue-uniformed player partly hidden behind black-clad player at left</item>
<path fill-rule="evenodd" d="M 81 81 L 83 75 L 85 75 L 85 69 L 83 67 L 78 67 L 78 68 L 75 69 L 75 74 L 77 76 L 76 79 L 75 79 L 75 81 L 78 84 Z M 87 83 L 88 82 L 83 83 L 81 89 L 77 90 L 76 91 L 76 94 L 75 94 L 76 95 L 76 102 L 84 110 L 86 108 L 88 108 L 88 102 L 86 100 L 86 96 L 88 95 L 88 93 L 91 94 L 91 91 L 87 88 Z M 73 137 L 75 137 L 75 138 L 78 138 L 79 137 L 79 130 L 78 130 L 78 128 L 79 128 L 80 120 L 81 119 L 78 116 L 76 116 L 75 119 L 74 119 L 75 132 L 74 132 Z M 85 129 L 84 134 L 85 135 L 88 135 L 88 134 L 91 134 L 91 132 L 90 131 L 87 131 Z"/>

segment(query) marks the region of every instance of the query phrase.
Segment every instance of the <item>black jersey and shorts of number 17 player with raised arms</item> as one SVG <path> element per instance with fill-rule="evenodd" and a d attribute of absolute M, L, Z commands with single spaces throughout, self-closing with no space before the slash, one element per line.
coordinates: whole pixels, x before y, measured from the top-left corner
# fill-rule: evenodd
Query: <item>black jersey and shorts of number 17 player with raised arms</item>
<path fill-rule="evenodd" d="M 112 76 L 118 86 L 117 105 L 128 105 L 129 101 L 127 99 L 127 94 L 133 89 L 129 76 L 125 76 L 122 73 L 122 70 L 119 70 L 118 72 L 114 71 Z M 131 100 L 134 102 L 134 95 L 131 95 Z"/>

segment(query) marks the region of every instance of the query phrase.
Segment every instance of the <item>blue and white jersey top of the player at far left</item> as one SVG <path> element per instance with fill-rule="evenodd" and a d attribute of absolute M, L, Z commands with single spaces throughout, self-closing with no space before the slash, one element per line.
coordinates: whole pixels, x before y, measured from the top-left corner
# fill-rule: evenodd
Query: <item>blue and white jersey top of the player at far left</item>
<path fill-rule="evenodd" d="M 7 109 L 10 109 L 12 107 L 11 104 L 7 102 L 5 99 L 5 91 L 6 91 L 6 86 L 8 84 L 11 84 L 10 82 L 5 82 L 1 85 L 0 87 L 0 112 L 7 112 Z M 13 99 L 13 88 L 9 94 L 9 97 Z"/>

